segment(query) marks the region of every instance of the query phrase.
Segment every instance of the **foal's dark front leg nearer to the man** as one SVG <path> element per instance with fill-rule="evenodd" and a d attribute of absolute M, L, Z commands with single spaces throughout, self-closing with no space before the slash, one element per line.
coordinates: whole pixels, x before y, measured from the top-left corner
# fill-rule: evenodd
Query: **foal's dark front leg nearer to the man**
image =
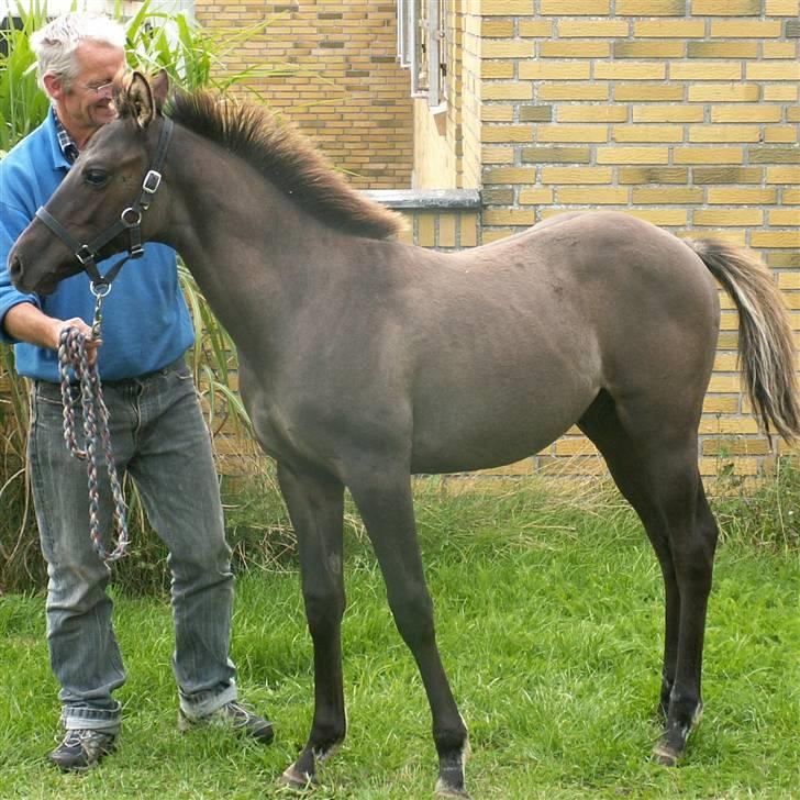
<path fill-rule="evenodd" d="M 314 644 L 314 720 L 308 743 L 284 773 L 305 787 L 316 782 L 316 762 L 345 736 L 341 623 L 345 596 L 342 565 L 344 487 L 320 473 L 278 466 L 278 480 L 297 534 L 305 615 Z"/>

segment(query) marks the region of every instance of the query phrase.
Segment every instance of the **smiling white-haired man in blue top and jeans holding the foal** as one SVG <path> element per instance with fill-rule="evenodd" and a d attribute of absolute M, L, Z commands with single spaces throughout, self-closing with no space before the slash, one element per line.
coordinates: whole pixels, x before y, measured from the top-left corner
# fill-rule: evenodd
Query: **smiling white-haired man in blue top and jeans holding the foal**
<path fill-rule="evenodd" d="M 93 298 L 82 274 L 47 297 L 22 295 L 10 285 L 7 260 L 36 208 L 114 118 L 110 84 L 124 69 L 124 43 L 116 22 L 88 14 L 67 14 L 34 34 L 52 109 L 0 160 L 0 336 L 14 343 L 18 371 L 33 380 L 29 462 L 47 560 L 47 641 L 66 729 L 49 758 L 65 770 L 91 767 L 114 749 L 121 705 L 112 692 L 125 680 L 105 591 L 110 569 L 89 537 L 86 466 L 67 452 L 62 429 L 56 348 L 68 325 L 90 333 Z M 89 349 L 103 380 L 118 468 L 135 481 L 169 548 L 179 726 L 226 724 L 269 742 L 271 724 L 236 701 L 231 551 L 208 431 L 184 363 L 193 333 L 174 251 L 148 244 L 143 258 L 122 269 L 104 301 L 101 336 Z M 103 488 L 108 529 L 108 481 Z"/>

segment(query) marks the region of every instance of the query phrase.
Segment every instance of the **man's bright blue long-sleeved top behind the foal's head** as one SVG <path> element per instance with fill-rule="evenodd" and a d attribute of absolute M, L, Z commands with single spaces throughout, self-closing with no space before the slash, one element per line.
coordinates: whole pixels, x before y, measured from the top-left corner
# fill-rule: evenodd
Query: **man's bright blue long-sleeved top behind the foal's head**
<path fill-rule="evenodd" d="M 16 237 L 58 188 L 69 166 L 58 144 L 53 111 L 0 159 L 0 341 L 14 344 L 20 375 L 54 382 L 59 379 L 55 351 L 13 340 L 2 323 L 9 309 L 22 302 L 57 319 L 80 316 L 88 324 L 92 322 L 95 298 L 85 273 L 66 278 L 46 297 L 23 295 L 9 279 L 8 257 Z M 103 274 L 109 262 L 98 267 Z M 151 242 L 142 258 L 125 264 L 103 301 L 102 340 L 98 369 L 107 380 L 160 369 L 191 346 L 195 332 L 178 282 L 174 249 Z"/>

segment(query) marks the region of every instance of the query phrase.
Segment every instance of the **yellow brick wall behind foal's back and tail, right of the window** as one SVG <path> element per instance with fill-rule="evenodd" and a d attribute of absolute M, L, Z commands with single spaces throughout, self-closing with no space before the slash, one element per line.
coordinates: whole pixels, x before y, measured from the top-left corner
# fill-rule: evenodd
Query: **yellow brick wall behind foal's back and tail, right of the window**
<path fill-rule="evenodd" d="M 681 236 L 747 244 L 775 269 L 800 345 L 799 4 L 474 3 L 482 241 L 567 210 L 615 208 Z M 723 309 L 701 468 L 730 460 L 751 475 L 768 444 L 740 396 L 726 296 Z M 592 471 L 591 453 L 568 435 L 511 471 L 564 468 L 564 457 Z"/>

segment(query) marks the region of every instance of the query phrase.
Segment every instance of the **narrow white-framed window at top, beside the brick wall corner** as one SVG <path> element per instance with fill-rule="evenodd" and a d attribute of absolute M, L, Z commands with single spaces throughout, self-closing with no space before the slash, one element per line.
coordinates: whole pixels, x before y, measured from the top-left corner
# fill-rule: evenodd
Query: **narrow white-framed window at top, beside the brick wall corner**
<path fill-rule="evenodd" d="M 398 60 L 411 73 L 411 97 L 438 108 L 447 99 L 446 0 L 398 0 Z"/>

